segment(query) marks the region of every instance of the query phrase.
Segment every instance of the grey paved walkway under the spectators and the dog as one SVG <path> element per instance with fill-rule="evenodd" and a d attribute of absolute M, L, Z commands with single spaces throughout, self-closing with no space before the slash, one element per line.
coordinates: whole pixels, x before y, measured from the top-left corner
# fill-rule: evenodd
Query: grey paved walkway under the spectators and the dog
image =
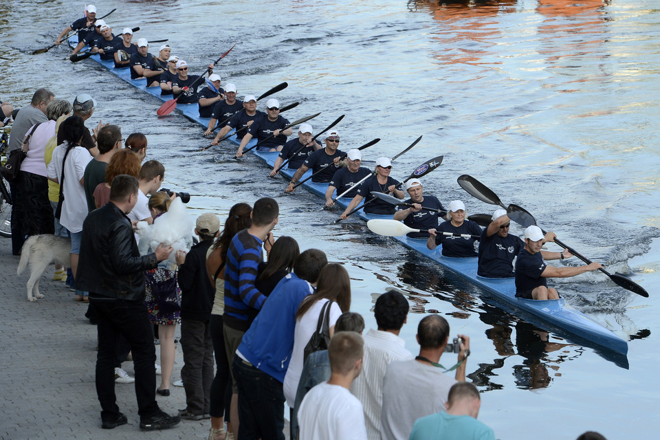
<path fill-rule="evenodd" d="M 133 384 L 115 386 L 117 403 L 129 423 L 102 430 L 94 386 L 96 327 L 85 319 L 87 305 L 76 303 L 64 283 L 51 281 L 52 265 L 41 278 L 45 297 L 28 302 L 28 275 L 17 276 L 18 263 L 10 239 L 0 238 L 0 439 L 208 437 L 209 420 L 183 420 L 169 430 L 141 431 Z M 172 382 L 181 378 L 181 366 L 183 356 L 177 344 Z M 123 367 L 133 376 L 132 362 L 124 362 Z M 184 388 L 175 386 L 170 392 L 169 397 L 156 398 L 163 410 L 175 414 L 185 408 L 186 395 Z M 287 425 L 285 432 L 288 429 Z"/>

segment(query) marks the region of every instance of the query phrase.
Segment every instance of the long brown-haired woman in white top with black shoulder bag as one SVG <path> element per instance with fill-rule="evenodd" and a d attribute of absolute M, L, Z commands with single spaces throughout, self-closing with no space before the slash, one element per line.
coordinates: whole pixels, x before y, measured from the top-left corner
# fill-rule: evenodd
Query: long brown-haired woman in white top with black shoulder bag
<path fill-rule="evenodd" d="M 332 337 L 337 319 L 342 313 L 351 309 L 351 280 L 344 266 L 338 263 L 330 263 L 323 267 L 318 276 L 316 292 L 307 296 L 296 311 L 294 351 L 284 378 L 284 396 L 287 398 L 289 408 L 294 408 L 296 402 L 298 382 L 305 362 L 305 347 L 316 332 L 319 316 L 323 306 L 328 302 L 331 302 L 328 327 L 329 336 Z"/>

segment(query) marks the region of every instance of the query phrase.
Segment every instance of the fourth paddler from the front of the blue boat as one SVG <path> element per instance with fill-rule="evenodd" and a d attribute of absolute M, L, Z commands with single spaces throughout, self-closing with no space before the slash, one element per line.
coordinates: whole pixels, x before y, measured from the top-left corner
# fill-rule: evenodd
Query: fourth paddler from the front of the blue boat
<path fill-rule="evenodd" d="M 437 212 L 423 210 L 421 207 L 443 211 L 445 208 L 443 208 L 442 203 L 440 203 L 437 197 L 422 195 L 423 186 L 421 186 L 419 179 L 408 180 L 406 182 L 406 191 L 410 195 L 410 199 L 404 201 L 404 203 L 412 203 L 412 206 L 406 209 L 396 206 L 397 212 L 394 214 L 394 219 L 403 220 L 404 225 L 408 226 L 408 228 L 420 230 L 420 232 L 408 232 L 408 236 L 411 239 L 428 239 L 427 231 L 438 227 L 439 216 Z"/>

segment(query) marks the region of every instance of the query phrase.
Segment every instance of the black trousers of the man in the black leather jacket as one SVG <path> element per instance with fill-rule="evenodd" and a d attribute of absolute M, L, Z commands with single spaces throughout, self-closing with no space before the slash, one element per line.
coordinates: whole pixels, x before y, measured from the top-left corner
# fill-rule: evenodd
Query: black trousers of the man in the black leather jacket
<path fill-rule="evenodd" d="M 115 348 L 120 335 L 131 345 L 135 366 L 135 397 L 140 417 L 159 412 L 156 403 L 156 350 L 151 336 L 151 321 L 142 301 L 98 299 L 92 296 L 90 305 L 98 324 L 96 355 L 96 394 L 101 404 L 101 419 L 115 420 L 119 407 L 115 397 Z"/>

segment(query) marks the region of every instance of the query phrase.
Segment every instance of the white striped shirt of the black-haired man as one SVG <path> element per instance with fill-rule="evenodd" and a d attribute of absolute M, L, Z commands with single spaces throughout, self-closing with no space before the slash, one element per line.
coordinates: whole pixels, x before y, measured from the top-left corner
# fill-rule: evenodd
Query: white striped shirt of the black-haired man
<path fill-rule="evenodd" d="M 415 358 L 405 346 L 403 339 L 389 331 L 370 329 L 364 336 L 362 373 L 353 381 L 351 393 L 362 402 L 369 440 L 380 440 L 383 380 L 387 366 L 395 360 Z"/>

